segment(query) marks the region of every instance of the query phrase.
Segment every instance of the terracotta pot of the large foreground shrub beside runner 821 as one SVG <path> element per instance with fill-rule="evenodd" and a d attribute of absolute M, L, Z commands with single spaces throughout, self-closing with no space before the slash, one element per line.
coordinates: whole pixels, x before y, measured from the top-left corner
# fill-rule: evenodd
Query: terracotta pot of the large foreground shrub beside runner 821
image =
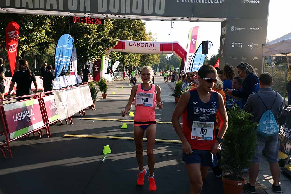
<path fill-rule="evenodd" d="M 222 177 L 224 194 L 241 194 L 246 181 L 244 179 L 243 181 L 232 181 L 227 178 L 227 175 Z"/>

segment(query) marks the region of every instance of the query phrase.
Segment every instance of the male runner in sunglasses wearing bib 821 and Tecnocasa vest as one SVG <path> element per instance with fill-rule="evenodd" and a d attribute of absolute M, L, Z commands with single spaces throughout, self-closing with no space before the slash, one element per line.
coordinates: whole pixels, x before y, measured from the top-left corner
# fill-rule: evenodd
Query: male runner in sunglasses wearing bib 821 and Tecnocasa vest
<path fill-rule="evenodd" d="M 215 154 L 228 126 L 221 94 L 212 91 L 217 71 L 203 65 L 198 71 L 199 86 L 184 92 L 172 116 L 172 124 L 182 141 L 183 161 L 190 178 L 190 194 L 200 194 L 208 168 L 217 163 Z M 214 138 L 215 115 L 220 117 L 219 133 Z M 183 114 L 183 129 L 179 118 Z"/>

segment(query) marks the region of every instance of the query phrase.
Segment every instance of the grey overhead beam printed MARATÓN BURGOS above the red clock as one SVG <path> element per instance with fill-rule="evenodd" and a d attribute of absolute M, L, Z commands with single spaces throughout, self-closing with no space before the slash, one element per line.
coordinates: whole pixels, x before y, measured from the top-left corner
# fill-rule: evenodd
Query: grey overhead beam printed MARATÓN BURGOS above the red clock
<path fill-rule="evenodd" d="M 267 18 L 269 0 L 2 0 L 0 7 L 149 17 Z"/>

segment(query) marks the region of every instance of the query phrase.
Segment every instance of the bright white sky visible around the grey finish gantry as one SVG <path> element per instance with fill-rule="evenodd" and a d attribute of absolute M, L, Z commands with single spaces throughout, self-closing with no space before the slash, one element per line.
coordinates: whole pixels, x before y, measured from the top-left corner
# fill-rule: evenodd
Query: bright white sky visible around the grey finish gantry
<path fill-rule="evenodd" d="M 289 24 L 291 0 L 270 0 L 269 20 L 267 29 L 267 40 L 272 41 L 291 32 Z M 172 21 L 143 21 L 147 32 L 155 33 L 157 41 L 178 41 L 183 47 L 187 48 L 188 33 L 194 26 L 202 26 L 203 39 L 208 39 L 213 43 L 210 55 L 217 54 L 220 43 L 221 23 L 219 22 L 182 22 L 173 21 L 174 28 L 171 33 Z"/>

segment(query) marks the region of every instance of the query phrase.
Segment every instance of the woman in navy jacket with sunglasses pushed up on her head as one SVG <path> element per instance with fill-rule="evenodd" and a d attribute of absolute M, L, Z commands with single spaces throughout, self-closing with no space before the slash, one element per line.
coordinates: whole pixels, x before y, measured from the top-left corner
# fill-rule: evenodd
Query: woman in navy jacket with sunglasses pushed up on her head
<path fill-rule="evenodd" d="M 244 107 L 249 95 L 260 89 L 259 78 L 257 76 L 257 72 L 255 72 L 255 69 L 248 63 L 239 63 L 237 66 L 237 72 L 244 80 L 241 90 L 226 89 L 225 93 L 230 97 L 241 98 L 242 107 Z"/>

